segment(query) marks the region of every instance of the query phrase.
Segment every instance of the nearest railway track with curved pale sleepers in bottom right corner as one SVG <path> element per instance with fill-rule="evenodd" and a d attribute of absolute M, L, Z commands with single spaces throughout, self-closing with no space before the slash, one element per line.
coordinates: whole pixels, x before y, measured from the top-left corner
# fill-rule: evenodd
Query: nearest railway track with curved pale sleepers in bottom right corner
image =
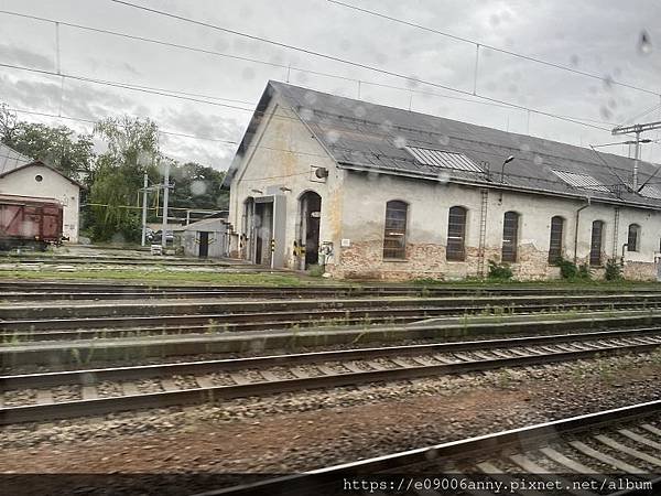
<path fill-rule="evenodd" d="M 375 494 L 651 496 L 661 486 L 660 452 L 658 400 L 198 496 L 360 494 L 346 481 L 367 481 Z"/>

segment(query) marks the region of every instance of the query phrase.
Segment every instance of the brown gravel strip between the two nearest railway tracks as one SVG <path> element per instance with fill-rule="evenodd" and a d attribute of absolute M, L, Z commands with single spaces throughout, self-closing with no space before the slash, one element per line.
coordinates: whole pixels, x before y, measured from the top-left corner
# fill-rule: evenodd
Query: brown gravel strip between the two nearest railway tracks
<path fill-rule="evenodd" d="M 296 472 L 659 399 L 660 379 L 661 354 L 648 354 L 13 425 L 0 472 Z M 165 475 L 140 477 L 165 494 Z M 224 477 L 189 483 L 238 482 Z"/>

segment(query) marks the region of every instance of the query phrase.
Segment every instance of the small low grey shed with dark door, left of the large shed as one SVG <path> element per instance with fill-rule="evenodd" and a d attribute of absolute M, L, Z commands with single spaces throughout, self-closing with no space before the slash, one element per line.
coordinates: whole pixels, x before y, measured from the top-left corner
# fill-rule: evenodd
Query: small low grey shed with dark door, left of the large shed
<path fill-rule="evenodd" d="M 227 220 L 205 218 L 174 230 L 174 242 L 184 255 L 201 258 L 221 258 L 229 255 Z"/>

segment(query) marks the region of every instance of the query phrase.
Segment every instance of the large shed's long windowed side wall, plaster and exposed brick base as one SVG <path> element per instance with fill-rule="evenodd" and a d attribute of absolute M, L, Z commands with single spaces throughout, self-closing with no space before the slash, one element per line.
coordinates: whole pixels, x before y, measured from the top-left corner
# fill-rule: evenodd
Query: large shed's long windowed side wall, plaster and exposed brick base
<path fill-rule="evenodd" d="M 452 280 L 478 276 L 481 217 L 479 188 L 351 172 L 345 181 L 344 197 L 342 237 L 348 239 L 350 246 L 340 248 L 337 262 L 329 267 L 335 277 Z M 384 260 L 382 256 L 386 203 L 391 200 L 409 203 L 404 260 Z M 489 191 L 485 225 L 485 271 L 488 269 L 487 260 L 501 260 L 503 216 L 506 212 L 513 211 L 520 216 L 517 262 L 510 265 L 514 277 L 522 280 L 560 277 L 557 267 L 549 265 L 551 218 L 564 218 L 562 252 L 565 259 L 573 260 L 576 212 L 586 204 L 586 201 Z M 465 261 L 446 260 L 448 209 L 452 206 L 467 209 Z M 621 246 L 627 242 L 628 226 L 637 223 L 641 226 L 640 248 L 637 252 L 625 251 L 624 272 L 630 279 L 655 279 L 654 255 L 659 250 L 661 215 L 620 207 L 619 228 L 615 238 L 615 213 L 614 206 L 594 203 L 581 211 L 577 263 L 587 263 L 589 260 L 593 220 L 604 222 L 604 262 L 608 258 L 621 256 Z M 600 269 L 594 270 L 596 277 L 603 277 L 603 272 Z"/>

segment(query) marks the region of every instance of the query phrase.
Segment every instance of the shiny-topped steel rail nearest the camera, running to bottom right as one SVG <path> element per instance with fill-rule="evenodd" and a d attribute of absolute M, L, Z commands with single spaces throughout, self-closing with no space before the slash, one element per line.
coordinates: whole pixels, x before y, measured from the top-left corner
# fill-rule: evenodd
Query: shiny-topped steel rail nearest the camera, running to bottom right
<path fill-rule="evenodd" d="M 404 470 L 429 464 L 431 460 L 466 460 L 476 455 L 495 453 L 503 448 L 517 448 L 522 451 L 555 441 L 562 435 L 589 432 L 615 423 L 632 422 L 661 412 L 661 400 L 631 405 L 628 407 L 586 413 L 535 425 L 511 429 L 475 438 L 418 448 L 358 462 L 334 465 L 303 474 L 286 475 L 253 484 L 226 487 L 199 493 L 196 496 L 251 495 L 271 496 L 288 494 L 327 494 L 325 489 L 342 492 L 343 476 L 356 476 L 377 473 L 402 473 Z M 410 470 L 410 468 L 409 468 Z M 661 481 L 652 481 L 658 488 Z M 305 490 L 305 493 L 302 493 Z M 618 493 L 621 495 L 630 493 Z M 614 495 L 615 496 L 615 495 Z"/>

